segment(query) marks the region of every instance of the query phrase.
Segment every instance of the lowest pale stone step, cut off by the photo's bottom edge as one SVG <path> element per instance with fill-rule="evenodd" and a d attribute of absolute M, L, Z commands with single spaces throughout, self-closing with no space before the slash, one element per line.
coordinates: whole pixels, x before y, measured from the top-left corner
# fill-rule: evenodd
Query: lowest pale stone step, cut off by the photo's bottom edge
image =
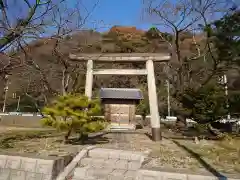
<path fill-rule="evenodd" d="M 136 171 L 127 171 L 113 168 L 76 168 L 73 176 L 73 180 L 94 180 L 94 179 L 106 179 L 106 180 L 134 180 L 136 177 Z"/>

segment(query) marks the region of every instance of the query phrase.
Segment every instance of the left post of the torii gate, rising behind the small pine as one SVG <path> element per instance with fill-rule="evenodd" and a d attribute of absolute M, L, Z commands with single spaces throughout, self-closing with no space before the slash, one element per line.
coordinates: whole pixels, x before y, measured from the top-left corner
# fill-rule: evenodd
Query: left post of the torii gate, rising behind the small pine
<path fill-rule="evenodd" d="M 92 85 L 93 85 L 93 60 L 88 60 L 87 61 L 86 83 L 85 83 L 85 95 L 89 99 L 92 98 Z"/>

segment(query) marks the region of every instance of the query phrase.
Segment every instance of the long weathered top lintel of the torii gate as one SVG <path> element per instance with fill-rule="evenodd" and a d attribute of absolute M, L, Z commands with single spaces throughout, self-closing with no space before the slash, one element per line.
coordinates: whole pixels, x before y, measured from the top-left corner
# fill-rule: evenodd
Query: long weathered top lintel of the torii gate
<path fill-rule="evenodd" d="M 101 53 L 101 54 L 70 54 L 72 60 L 94 60 L 105 62 L 135 62 L 135 61 L 169 61 L 171 55 L 169 53 Z"/>

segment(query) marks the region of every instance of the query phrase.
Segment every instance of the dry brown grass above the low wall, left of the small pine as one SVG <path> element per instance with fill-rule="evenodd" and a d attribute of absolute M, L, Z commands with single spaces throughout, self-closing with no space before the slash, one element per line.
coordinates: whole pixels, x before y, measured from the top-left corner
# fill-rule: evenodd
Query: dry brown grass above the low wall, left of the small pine
<path fill-rule="evenodd" d="M 63 133 L 49 129 L 14 129 L 1 133 L 0 153 L 61 155 L 75 153 L 77 147 L 63 144 Z"/>

